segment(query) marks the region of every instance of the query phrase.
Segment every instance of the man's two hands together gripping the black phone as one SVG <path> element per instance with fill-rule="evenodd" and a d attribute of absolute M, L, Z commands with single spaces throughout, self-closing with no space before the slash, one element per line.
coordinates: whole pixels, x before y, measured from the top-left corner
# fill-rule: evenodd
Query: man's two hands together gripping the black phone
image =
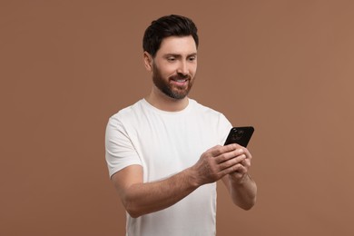
<path fill-rule="evenodd" d="M 250 152 L 238 144 L 218 145 L 203 152 L 199 161 L 192 166 L 192 170 L 196 173 L 200 185 L 216 182 L 227 174 L 231 174 L 232 179 L 238 181 L 248 172 L 250 160 Z"/>

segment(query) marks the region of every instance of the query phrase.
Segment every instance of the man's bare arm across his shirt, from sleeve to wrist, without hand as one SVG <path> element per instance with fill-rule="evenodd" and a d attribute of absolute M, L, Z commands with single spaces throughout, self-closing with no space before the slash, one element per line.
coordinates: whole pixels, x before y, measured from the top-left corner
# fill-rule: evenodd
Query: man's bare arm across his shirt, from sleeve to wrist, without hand
<path fill-rule="evenodd" d="M 198 188 L 190 169 L 158 182 L 143 183 L 143 167 L 131 165 L 112 177 L 125 210 L 132 217 L 160 211 Z"/>

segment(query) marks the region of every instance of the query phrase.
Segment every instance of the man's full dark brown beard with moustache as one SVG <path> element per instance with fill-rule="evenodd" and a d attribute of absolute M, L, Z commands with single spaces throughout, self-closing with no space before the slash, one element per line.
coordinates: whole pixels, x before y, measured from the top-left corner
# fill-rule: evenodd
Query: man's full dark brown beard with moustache
<path fill-rule="evenodd" d="M 163 79 L 162 74 L 160 70 L 156 67 L 156 65 L 153 64 L 152 66 L 152 82 L 162 93 L 176 100 L 181 100 L 185 98 L 188 93 L 190 93 L 193 85 L 192 77 L 190 74 L 175 74 L 170 76 L 166 81 Z M 174 81 L 186 79 L 187 84 L 181 86 L 176 84 L 170 84 L 170 79 Z"/>

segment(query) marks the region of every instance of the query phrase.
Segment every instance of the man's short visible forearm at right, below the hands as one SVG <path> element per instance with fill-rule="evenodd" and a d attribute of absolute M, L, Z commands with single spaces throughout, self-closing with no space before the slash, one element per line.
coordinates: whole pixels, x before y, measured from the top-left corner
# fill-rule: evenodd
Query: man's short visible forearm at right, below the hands
<path fill-rule="evenodd" d="M 241 182 L 236 182 L 229 176 L 229 181 L 232 202 L 244 210 L 250 210 L 257 199 L 257 185 L 251 176 L 245 174 Z"/>

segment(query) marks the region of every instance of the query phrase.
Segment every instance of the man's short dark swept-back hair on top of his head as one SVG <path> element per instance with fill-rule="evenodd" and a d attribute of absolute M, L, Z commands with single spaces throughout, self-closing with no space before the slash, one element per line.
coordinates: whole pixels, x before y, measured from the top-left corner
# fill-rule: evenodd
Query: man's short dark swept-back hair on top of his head
<path fill-rule="evenodd" d="M 166 15 L 152 21 L 143 34 L 143 51 L 155 56 L 160 48 L 162 39 L 169 36 L 192 35 L 198 48 L 199 39 L 197 27 L 191 19 L 182 15 Z"/>

